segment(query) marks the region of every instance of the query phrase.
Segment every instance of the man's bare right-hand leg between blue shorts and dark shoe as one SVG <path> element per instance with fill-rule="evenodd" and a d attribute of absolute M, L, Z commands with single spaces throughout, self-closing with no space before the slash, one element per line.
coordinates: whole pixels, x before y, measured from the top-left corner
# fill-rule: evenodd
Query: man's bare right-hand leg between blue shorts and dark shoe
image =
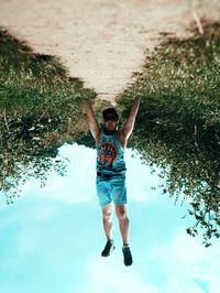
<path fill-rule="evenodd" d="M 116 214 L 119 220 L 119 227 L 121 231 L 123 246 L 128 246 L 129 245 L 129 240 L 128 240 L 129 218 L 127 216 L 125 205 L 116 205 Z"/>

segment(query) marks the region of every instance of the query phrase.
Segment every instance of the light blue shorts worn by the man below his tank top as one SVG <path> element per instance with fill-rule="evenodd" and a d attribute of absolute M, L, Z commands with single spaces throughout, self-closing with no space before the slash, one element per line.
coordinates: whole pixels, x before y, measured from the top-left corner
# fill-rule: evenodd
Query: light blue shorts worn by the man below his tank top
<path fill-rule="evenodd" d="M 127 204 L 127 186 L 124 175 L 117 175 L 110 178 L 97 176 L 96 183 L 99 205 L 101 207 L 109 205 L 112 200 L 114 205 Z"/>

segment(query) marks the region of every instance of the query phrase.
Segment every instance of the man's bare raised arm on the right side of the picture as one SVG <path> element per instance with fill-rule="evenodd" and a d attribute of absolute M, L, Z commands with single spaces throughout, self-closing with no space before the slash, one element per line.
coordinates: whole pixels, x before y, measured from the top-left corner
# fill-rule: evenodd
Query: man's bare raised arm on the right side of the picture
<path fill-rule="evenodd" d="M 139 111 L 139 106 L 140 106 L 140 98 L 135 98 L 133 106 L 131 108 L 129 118 L 122 129 L 122 135 L 123 135 L 123 140 L 124 142 L 128 141 L 129 137 L 131 135 L 133 128 L 134 128 L 134 122 L 135 122 L 135 118 Z"/>

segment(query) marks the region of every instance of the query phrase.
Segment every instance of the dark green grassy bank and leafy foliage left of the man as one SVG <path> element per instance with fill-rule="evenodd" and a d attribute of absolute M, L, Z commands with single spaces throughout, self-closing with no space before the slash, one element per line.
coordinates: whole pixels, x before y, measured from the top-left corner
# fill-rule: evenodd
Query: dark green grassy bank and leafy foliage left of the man
<path fill-rule="evenodd" d="M 0 30 L 0 189 L 9 203 L 30 177 L 64 173 L 58 146 L 85 133 L 82 102 L 95 96 L 57 58 Z"/>

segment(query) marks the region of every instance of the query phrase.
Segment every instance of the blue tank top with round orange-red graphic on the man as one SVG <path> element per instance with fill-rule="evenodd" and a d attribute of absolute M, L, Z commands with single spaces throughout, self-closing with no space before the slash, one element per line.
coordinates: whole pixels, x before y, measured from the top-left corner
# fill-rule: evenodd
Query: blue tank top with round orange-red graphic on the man
<path fill-rule="evenodd" d="M 97 172 L 118 174 L 125 170 L 124 149 L 119 142 L 119 131 L 116 131 L 112 135 L 107 135 L 101 130 L 97 146 Z"/>

